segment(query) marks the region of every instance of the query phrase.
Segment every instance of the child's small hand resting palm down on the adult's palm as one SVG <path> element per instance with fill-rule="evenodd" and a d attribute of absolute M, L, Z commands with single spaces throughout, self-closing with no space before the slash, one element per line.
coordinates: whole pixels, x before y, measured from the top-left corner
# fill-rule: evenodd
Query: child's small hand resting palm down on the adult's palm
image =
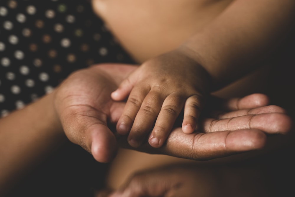
<path fill-rule="evenodd" d="M 117 90 L 114 100 L 127 103 L 117 131 L 127 134 L 138 147 L 149 136 L 149 144 L 160 147 L 184 108 L 182 130 L 192 133 L 208 93 L 208 74 L 202 66 L 179 51 L 150 59 L 133 71 Z"/>

